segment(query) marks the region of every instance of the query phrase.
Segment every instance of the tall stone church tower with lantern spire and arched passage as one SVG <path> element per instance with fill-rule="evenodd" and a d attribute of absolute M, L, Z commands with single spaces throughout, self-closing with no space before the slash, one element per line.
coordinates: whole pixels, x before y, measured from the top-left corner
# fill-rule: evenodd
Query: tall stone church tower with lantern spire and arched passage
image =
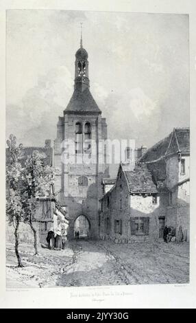
<path fill-rule="evenodd" d="M 106 176 L 106 119 L 90 93 L 88 53 L 75 54 L 75 82 L 71 100 L 59 117 L 54 144 L 56 194 L 69 217 L 68 238 L 99 238 L 101 181 Z"/>

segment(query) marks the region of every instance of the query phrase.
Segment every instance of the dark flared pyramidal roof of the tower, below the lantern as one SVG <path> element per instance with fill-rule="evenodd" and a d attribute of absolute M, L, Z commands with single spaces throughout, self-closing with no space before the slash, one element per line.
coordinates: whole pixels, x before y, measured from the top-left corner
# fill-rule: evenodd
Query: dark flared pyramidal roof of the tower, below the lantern
<path fill-rule="evenodd" d="M 101 113 L 97 103 L 95 102 L 92 94 L 88 87 L 81 91 L 75 89 L 69 104 L 67 105 L 64 113 L 75 113 L 75 112 L 98 112 Z"/>

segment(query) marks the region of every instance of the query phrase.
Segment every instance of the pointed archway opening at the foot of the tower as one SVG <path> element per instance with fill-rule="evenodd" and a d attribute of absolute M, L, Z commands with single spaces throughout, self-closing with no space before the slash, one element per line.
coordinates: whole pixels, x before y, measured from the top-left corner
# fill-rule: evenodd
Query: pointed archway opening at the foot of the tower
<path fill-rule="evenodd" d="M 75 238 L 90 238 L 90 223 L 86 216 L 79 215 L 74 223 Z"/>

